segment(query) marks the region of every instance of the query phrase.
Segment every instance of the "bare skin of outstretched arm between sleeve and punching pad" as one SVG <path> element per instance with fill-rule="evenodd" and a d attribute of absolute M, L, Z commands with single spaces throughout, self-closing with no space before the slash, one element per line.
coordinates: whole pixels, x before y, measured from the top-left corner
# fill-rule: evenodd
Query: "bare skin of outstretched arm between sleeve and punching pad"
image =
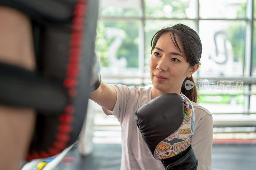
<path fill-rule="evenodd" d="M 112 85 L 104 83 L 102 80 L 100 86 L 90 93 L 90 99 L 108 110 L 113 111 L 116 104 L 117 93 Z"/>

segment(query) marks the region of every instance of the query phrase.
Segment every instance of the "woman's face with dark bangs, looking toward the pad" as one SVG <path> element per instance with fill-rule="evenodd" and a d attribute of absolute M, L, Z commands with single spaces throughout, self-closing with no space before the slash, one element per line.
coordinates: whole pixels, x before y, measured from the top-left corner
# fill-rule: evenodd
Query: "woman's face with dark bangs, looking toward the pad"
<path fill-rule="evenodd" d="M 191 70 L 179 37 L 175 37 L 181 52 L 167 32 L 158 39 L 149 61 L 151 81 L 157 90 L 164 93 L 179 93 L 184 79 L 197 70 Z"/>

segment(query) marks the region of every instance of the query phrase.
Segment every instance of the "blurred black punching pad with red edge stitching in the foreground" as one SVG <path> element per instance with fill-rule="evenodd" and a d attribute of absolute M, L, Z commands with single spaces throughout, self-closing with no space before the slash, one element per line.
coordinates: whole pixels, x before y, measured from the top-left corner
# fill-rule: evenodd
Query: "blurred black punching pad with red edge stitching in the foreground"
<path fill-rule="evenodd" d="M 0 63 L 0 103 L 38 112 L 27 159 L 56 155 L 73 144 L 86 115 L 98 1 L 8 0 L 0 5 L 32 21 L 37 70 Z"/>

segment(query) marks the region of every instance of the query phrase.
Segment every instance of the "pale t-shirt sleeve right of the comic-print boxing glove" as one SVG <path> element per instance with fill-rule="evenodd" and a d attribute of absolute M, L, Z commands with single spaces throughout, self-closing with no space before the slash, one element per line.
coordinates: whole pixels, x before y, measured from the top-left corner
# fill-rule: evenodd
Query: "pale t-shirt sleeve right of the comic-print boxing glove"
<path fill-rule="evenodd" d="M 212 115 L 205 115 L 198 122 L 192 139 L 192 146 L 198 160 L 197 170 L 211 170 L 212 136 Z"/>

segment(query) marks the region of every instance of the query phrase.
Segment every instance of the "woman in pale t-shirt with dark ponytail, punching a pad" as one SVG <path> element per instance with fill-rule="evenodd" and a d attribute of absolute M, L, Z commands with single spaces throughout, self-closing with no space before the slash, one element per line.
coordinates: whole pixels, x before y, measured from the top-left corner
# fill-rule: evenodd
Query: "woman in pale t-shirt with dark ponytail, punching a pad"
<path fill-rule="evenodd" d="M 149 62 L 150 77 L 154 87 L 108 85 L 101 82 L 91 92 L 91 99 L 102 106 L 106 115 L 115 115 L 122 127 L 122 170 L 163 169 L 161 161 L 154 159 L 141 137 L 134 121 L 138 108 L 157 96 L 171 92 L 183 93 L 193 104 L 195 132 L 192 147 L 198 159 L 198 170 L 211 169 L 212 115 L 197 102 L 196 86 L 186 90 L 186 80 L 199 67 L 202 44 L 198 34 L 188 26 L 177 24 L 159 30 L 151 41 Z"/>

